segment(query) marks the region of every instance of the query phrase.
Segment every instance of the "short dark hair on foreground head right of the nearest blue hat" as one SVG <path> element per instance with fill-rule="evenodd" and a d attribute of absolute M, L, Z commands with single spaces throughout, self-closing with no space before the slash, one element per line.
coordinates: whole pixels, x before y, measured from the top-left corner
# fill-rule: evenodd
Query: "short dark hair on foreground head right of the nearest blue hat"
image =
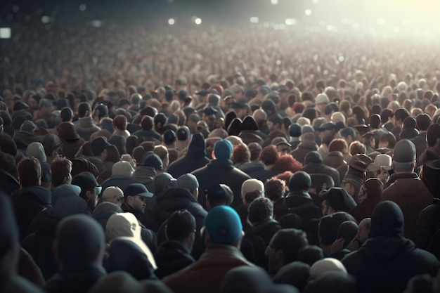
<path fill-rule="evenodd" d="M 309 244 L 306 233 L 294 228 L 278 230 L 271 242 L 274 247 L 283 251 L 284 263 L 297 261 L 299 249 Z"/>

